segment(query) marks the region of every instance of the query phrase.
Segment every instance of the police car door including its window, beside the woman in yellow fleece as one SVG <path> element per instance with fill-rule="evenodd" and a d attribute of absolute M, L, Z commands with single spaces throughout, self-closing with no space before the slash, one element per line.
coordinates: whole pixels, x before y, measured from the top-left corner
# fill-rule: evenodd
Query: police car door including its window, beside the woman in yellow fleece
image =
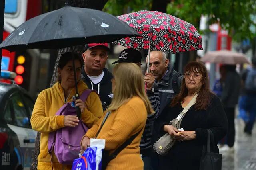
<path fill-rule="evenodd" d="M 30 98 L 26 98 L 31 100 Z M 30 117 L 32 114 L 33 106 L 24 102 L 22 93 L 14 93 L 10 97 L 11 111 L 14 113 L 14 125 L 8 124 L 8 127 L 14 131 L 20 142 L 20 149 L 22 151 L 23 167 L 24 170 L 29 169 L 31 166 L 31 158 L 34 152 L 36 131 L 32 130 L 30 125 Z M 32 107 L 32 108 L 31 108 Z"/>

